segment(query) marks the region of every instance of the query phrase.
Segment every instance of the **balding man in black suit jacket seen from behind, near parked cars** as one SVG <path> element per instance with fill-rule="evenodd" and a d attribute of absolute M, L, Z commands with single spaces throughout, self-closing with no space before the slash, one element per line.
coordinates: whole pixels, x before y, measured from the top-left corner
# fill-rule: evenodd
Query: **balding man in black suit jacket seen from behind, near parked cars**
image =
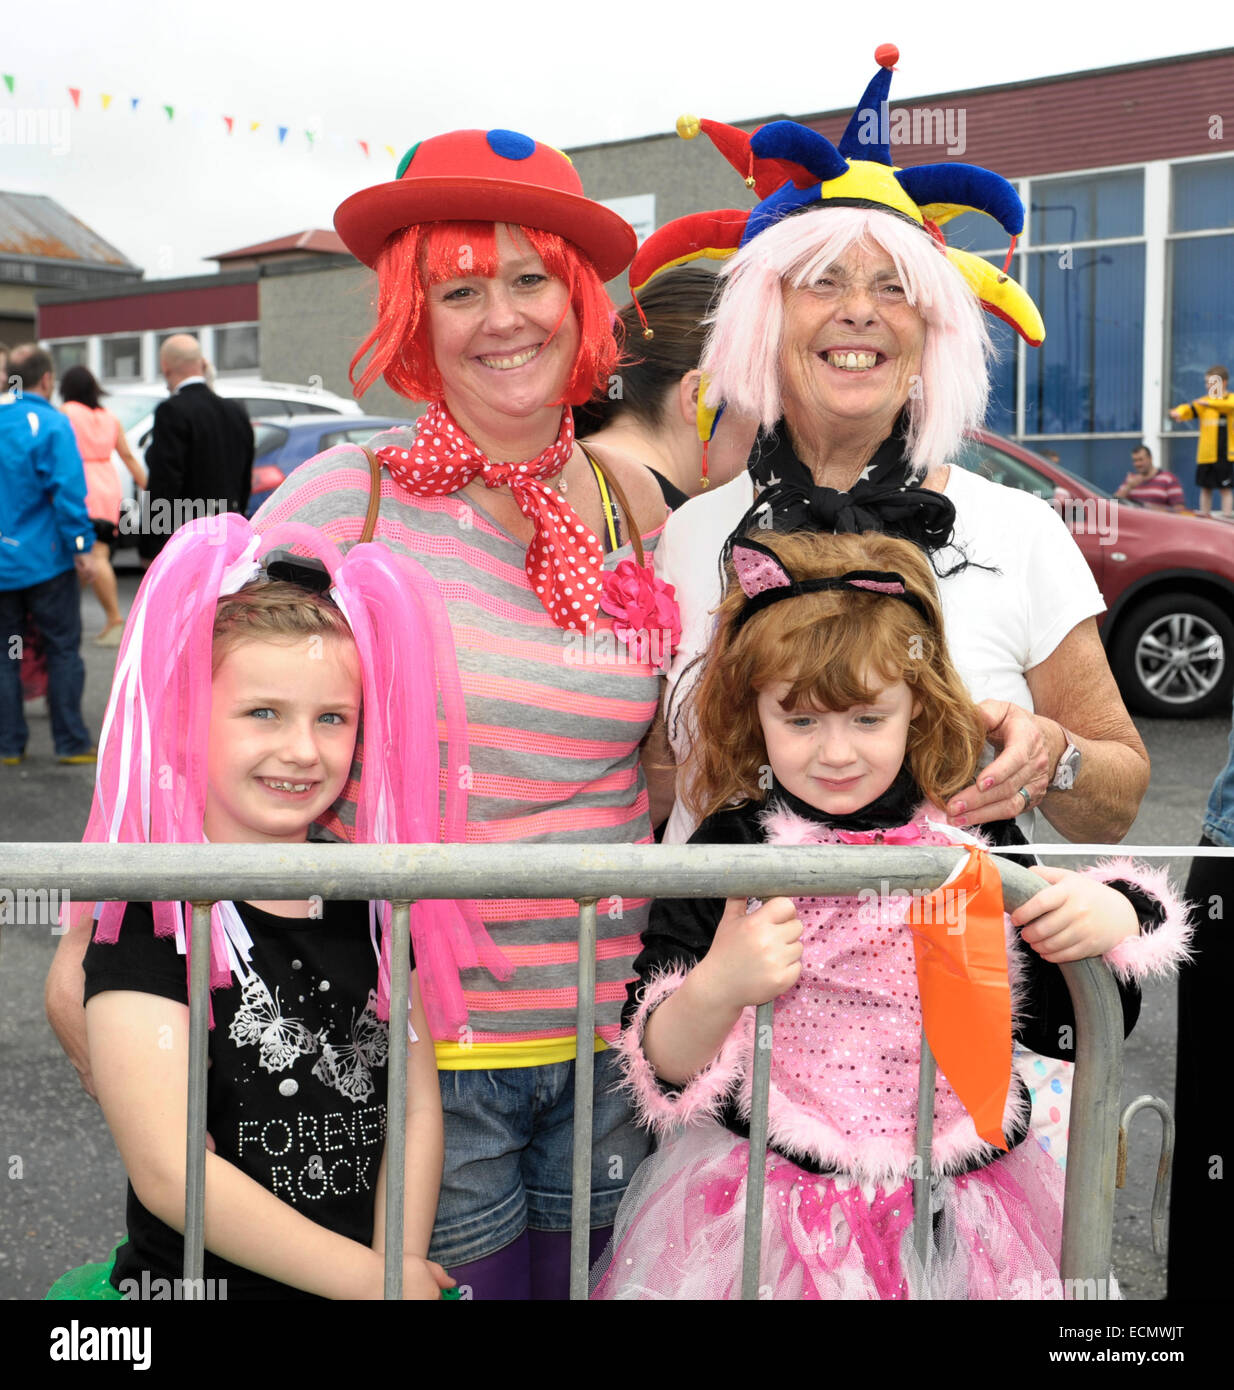
<path fill-rule="evenodd" d="M 253 427 L 245 407 L 215 396 L 196 338 L 176 334 L 158 354 L 171 392 L 154 411 L 146 450 L 149 516 L 138 550 L 153 560 L 185 521 L 243 512 L 253 482 Z"/>

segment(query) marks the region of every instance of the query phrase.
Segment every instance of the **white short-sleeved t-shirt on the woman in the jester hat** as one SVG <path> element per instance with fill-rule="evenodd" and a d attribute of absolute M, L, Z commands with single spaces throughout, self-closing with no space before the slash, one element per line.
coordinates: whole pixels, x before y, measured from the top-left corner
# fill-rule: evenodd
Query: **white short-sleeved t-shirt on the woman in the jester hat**
<path fill-rule="evenodd" d="M 1031 710 L 1024 673 L 1039 666 L 1071 628 L 1102 613 L 1105 600 L 1080 548 L 1048 502 L 955 466 L 944 495 L 956 509 L 955 545 L 970 562 L 966 570 L 938 581 L 952 662 L 976 702 L 1005 699 Z M 656 574 L 675 587 L 681 605 L 681 645 L 668 669 L 670 695 L 686 666 L 707 646 L 713 610 L 723 592 L 720 549 L 753 502 L 755 484 L 743 473 L 678 507 L 664 527 Z M 957 550 L 938 552 L 938 569 L 951 569 L 960 557 Z M 698 673 L 695 667 L 689 680 Z M 678 763 L 689 752 L 691 738 L 688 721 L 677 717 L 680 702 L 681 696 L 673 699 L 668 730 Z M 1031 838 L 1031 812 L 1019 821 Z M 693 828 L 693 817 L 678 798 L 664 842 L 682 844 Z"/>

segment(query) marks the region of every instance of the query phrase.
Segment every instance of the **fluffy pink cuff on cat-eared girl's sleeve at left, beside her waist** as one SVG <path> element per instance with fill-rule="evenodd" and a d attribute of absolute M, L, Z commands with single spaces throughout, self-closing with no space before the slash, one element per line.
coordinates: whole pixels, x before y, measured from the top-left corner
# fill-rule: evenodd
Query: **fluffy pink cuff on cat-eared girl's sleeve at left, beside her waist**
<path fill-rule="evenodd" d="M 642 990 L 630 1026 L 616 1044 L 625 1073 L 621 1087 L 634 1098 L 639 1123 L 659 1134 L 667 1134 L 678 1125 L 717 1119 L 725 1098 L 745 1070 L 745 1058 L 753 1042 L 755 1011 L 746 1009 L 714 1061 L 681 1090 L 666 1093 L 660 1088 L 656 1070 L 642 1049 L 642 1036 L 655 1009 L 685 984 L 686 974 L 685 970 L 668 970 L 652 976 Z"/>

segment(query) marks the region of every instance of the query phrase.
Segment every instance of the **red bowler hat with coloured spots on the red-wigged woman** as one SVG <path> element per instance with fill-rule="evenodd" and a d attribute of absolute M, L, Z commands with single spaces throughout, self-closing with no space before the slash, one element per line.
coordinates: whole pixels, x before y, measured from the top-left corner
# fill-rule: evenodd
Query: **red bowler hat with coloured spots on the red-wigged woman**
<path fill-rule="evenodd" d="M 414 145 L 393 183 L 361 189 L 335 213 L 347 249 L 372 265 L 390 234 L 414 222 L 516 222 L 564 236 L 613 279 L 638 246 L 634 228 L 584 197 L 574 165 L 517 131 L 452 131 Z"/>

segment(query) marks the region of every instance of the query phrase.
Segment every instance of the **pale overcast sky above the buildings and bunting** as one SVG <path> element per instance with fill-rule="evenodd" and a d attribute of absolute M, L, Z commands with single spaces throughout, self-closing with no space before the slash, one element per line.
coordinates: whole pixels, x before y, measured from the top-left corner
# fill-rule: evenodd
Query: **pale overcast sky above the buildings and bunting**
<path fill-rule="evenodd" d="M 1216 47 L 1223 10 L 1174 0 L 1134 24 L 1094 0 L 714 13 L 737 18 L 666 0 L 25 7 L 0 38 L 0 72 L 15 78 L 13 95 L 0 86 L 0 189 L 56 197 L 147 277 L 192 275 L 214 270 L 211 253 L 329 227 L 343 197 L 393 178 L 385 145 L 402 156 L 443 131 L 509 126 L 566 147 L 671 131 L 682 111 L 739 121 L 853 106 L 887 42 L 900 49 L 902 103 Z"/>

